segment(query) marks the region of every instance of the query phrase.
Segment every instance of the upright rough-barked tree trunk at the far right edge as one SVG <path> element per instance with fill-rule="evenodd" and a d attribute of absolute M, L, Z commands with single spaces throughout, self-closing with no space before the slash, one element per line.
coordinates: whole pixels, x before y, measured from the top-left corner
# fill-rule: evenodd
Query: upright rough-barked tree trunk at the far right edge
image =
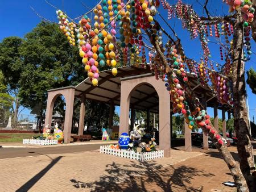
<path fill-rule="evenodd" d="M 252 191 L 253 189 L 255 190 L 256 181 L 251 176 L 255 172 L 255 167 L 246 107 L 245 64 L 243 62 L 243 19 L 241 9 L 237 10 L 236 22 L 234 23 L 233 46 L 233 114 L 234 128 L 237 136 L 237 151 L 240 157 L 241 171 L 249 189 Z"/>

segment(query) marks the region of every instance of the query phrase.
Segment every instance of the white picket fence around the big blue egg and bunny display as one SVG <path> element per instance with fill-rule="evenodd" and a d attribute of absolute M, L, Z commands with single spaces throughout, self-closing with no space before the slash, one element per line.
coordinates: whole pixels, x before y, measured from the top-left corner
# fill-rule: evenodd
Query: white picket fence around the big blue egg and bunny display
<path fill-rule="evenodd" d="M 134 160 L 138 160 L 138 161 L 147 161 L 147 160 L 152 160 L 155 158 L 161 158 L 164 156 L 163 150 L 139 153 L 139 152 L 134 152 L 134 151 L 122 150 L 122 149 L 112 149 L 108 145 L 100 146 L 100 153 L 114 155 L 117 157 L 130 158 L 130 159 L 134 159 Z"/>

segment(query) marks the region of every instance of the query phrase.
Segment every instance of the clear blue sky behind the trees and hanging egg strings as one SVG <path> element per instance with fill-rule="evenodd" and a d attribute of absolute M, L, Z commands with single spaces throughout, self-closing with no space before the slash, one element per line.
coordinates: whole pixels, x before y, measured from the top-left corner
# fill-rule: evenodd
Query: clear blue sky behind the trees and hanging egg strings
<path fill-rule="evenodd" d="M 68 0 L 49 0 L 53 5 L 59 7 L 59 9 L 64 10 L 71 18 L 75 18 L 83 14 L 84 12 L 88 11 L 84 6 L 82 6 L 80 0 L 68 1 Z M 98 1 L 92 0 L 82 0 L 88 7 L 94 7 Z M 168 0 L 170 3 L 175 3 L 177 1 Z M 203 12 L 202 7 L 196 0 L 183 0 L 184 3 L 191 3 L 193 5 L 193 9 L 195 9 L 199 15 L 205 14 Z M 202 1 L 199 1 L 202 2 Z M 36 24 L 40 22 L 40 18 L 30 9 L 30 6 L 34 7 L 34 9 L 44 18 L 49 20 L 53 20 L 57 22 L 55 9 L 49 6 L 44 0 L 13 0 L 13 1 L 1 1 L 0 6 L 0 40 L 7 36 L 20 36 L 23 37 L 27 32 L 30 32 L 32 28 L 36 27 Z M 212 0 L 209 1 L 208 4 L 209 11 L 213 15 L 225 15 L 228 14 L 228 6 L 224 5 L 221 0 Z M 167 10 L 163 10 L 162 5 L 160 5 L 160 9 L 158 11 L 167 19 Z M 166 29 L 167 26 L 162 22 L 159 16 L 156 16 L 156 19 L 160 21 L 160 24 Z M 185 54 L 188 57 L 191 57 L 197 61 L 200 60 L 200 52 L 201 46 L 199 39 L 190 40 L 189 34 L 187 30 L 183 30 L 181 28 L 181 22 L 177 19 L 168 20 L 168 23 L 172 27 L 175 28 L 177 35 L 181 39 L 181 43 L 183 44 Z M 213 31 L 214 32 L 214 31 Z M 171 32 L 170 32 L 171 34 Z M 171 34 L 172 35 L 172 34 Z M 166 39 L 164 37 L 164 39 Z M 213 38 L 211 39 L 213 40 Z M 253 48 L 254 53 L 256 52 L 256 46 L 253 40 L 251 40 L 251 47 Z M 212 60 L 220 62 L 220 52 L 218 51 L 218 45 L 216 44 L 209 44 L 210 51 L 212 54 Z M 251 55 L 251 60 L 246 62 L 245 68 L 246 70 L 253 67 L 255 69 L 256 64 L 256 56 Z M 247 78 L 247 77 L 246 77 Z M 256 117 L 256 95 L 251 93 L 251 89 L 249 86 L 246 86 L 247 93 L 248 93 L 248 101 L 249 101 L 249 109 L 250 109 L 250 117 L 252 119 L 253 115 Z M 116 108 L 116 111 L 119 113 L 119 108 Z M 208 109 L 208 113 L 212 116 L 213 112 L 212 109 Z M 29 114 L 29 110 L 23 110 L 22 114 Z M 220 114 L 220 113 L 219 113 Z M 219 115 L 221 116 L 221 114 Z"/>

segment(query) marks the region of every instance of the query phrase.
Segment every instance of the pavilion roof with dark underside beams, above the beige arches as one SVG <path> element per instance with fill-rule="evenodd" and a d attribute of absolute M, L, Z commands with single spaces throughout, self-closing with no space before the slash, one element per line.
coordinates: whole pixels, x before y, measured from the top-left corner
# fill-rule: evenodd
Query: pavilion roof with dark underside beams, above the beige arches
<path fill-rule="evenodd" d="M 109 104 L 113 102 L 114 105 L 119 106 L 121 98 L 121 80 L 123 78 L 139 78 L 150 75 L 152 75 L 152 73 L 149 67 L 144 69 L 141 65 L 138 67 L 133 65 L 122 66 L 118 68 L 117 76 L 113 76 L 111 69 L 100 72 L 98 86 L 93 86 L 92 82 L 90 82 L 90 78 L 88 77 L 79 85 L 72 88 L 75 89 L 75 97 L 77 98 L 84 95 L 86 99 L 92 101 Z M 214 102 L 217 102 L 217 97 L 211 87 L 203 86 L 197 81 L 195 74 L 193 73 L 187 73 L 187 76 L 189 84 L 195 91 L 197 97 L 200 99 L 202 97 L 201 95 L 204 93 L 207 99 L 207 106 L 213 107 Z M 71 88 L 71 86 L 67 88 Z M 61 87 L 59 89 L 65 89 L 65 87 Z M 137 110 L 150 109 L 151 112 L 157 113 L 159 111 L 158 94 L 154 87 L 149 84 L 143 84 L 137 87 L 137 89 L 131 94 L 130 105 L 133 105 Z M 232 107 L 230 105 L 219 105 L 218 108 L 225 108 L 225 110 L 229 110 Z"/>

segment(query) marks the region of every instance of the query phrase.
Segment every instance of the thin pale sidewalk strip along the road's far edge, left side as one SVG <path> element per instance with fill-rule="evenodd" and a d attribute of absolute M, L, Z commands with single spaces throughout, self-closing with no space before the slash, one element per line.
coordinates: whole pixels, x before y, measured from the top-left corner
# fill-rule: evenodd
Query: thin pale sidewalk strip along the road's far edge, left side
<path fill-rule="evenodd" d="M 0 142 L 0 148 L 42 148 L 42 147 L 63 147 L 63 146 L 75 146 L 75 145 L 94 145 L 94 144 L 118 144 L 118 141 L 101 141 L 101 140 L 91 140 L 84 142 L 74 142 L 68 144 L 57 144 L 57 145 L 24 145 L 22 143 L 4 143 Z"/>

